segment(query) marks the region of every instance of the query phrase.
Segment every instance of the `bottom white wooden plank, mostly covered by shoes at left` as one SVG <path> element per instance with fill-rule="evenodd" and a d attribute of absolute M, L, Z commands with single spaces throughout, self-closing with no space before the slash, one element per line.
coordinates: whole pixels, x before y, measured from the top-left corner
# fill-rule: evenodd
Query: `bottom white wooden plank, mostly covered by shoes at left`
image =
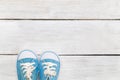
<path fill-rule="evenodd" d="M 58 80 L 119 80 L 120 57 L 61 56 Z M 0 80 L 17 80 L 16 56 L 0 56 Z"/>

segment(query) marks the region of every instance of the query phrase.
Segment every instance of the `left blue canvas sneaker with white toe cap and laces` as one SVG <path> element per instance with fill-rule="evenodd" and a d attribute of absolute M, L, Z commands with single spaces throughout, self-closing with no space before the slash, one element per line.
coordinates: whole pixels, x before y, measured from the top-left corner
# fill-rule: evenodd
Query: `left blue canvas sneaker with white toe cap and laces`
<path fill-rule="evenodd" d="M 38 64 L 36 54 L 30 50 L 21 51 L 16 64 L 18 80 L 37 80 Z"/>

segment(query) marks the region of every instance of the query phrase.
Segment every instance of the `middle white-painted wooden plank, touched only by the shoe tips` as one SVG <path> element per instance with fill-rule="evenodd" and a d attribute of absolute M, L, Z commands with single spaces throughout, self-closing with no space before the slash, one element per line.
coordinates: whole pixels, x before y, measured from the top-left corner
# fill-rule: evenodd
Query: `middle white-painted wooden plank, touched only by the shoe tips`
<path fill-rule="evenodd" d="M 0 54 L 119 54 L 120 21 L 0 21 Z"/>

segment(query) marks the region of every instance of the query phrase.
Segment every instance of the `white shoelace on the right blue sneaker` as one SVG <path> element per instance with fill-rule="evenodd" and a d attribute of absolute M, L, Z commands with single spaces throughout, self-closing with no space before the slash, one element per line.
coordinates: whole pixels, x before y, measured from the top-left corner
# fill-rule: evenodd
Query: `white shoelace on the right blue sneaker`
<path fill-rule="evenodd" d="M 42 65 L 45 65 L 43 68 L 44 70 L 44 74 L 47 77 L 54 77 L 56 76 L 56 69 L 53 66 L 57 66 L 57 64 L 51 63 L 51 62 L 45 62 L 42 63 Z"/>

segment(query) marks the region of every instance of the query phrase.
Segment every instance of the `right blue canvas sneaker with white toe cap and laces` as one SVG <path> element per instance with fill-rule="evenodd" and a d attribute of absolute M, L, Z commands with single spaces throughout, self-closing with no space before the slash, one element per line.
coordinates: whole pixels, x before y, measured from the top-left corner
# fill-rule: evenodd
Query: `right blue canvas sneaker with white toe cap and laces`
<path fill-rule="evenodd" d="M 44 52 L 40 58 L 40 80 L 57 80 L 60 71 L 60 59 L 54 52 Z"/>

